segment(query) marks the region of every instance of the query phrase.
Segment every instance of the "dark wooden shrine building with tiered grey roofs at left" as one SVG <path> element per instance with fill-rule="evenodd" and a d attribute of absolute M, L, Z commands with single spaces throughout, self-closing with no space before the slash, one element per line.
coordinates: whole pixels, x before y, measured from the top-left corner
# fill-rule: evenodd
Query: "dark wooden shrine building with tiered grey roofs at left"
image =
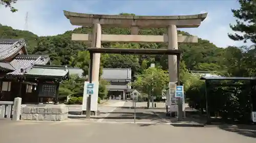
<path fill-rule="evenodd" d="M 58 103 L 58 88 L 68 79 L 67 66 L 51 66 L 48 55 L 28 55 L 24 39 L 0 39 L 0 101 Z"/>

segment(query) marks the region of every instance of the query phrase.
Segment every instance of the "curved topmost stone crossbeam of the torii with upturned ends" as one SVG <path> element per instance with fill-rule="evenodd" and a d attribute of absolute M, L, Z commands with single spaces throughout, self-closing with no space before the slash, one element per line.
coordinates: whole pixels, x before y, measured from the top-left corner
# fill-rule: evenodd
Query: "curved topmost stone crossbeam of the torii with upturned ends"
<path fill-rule="evenodd" d="M 176 25 L 177 28 L 198 27 L 207 16 L 207 13 L 180 16 L 124 16 L 63 12 L 72 25 L 92 26 L 99 23 L 102 26 L 139 28 L 165 28 L 168 25 Z"/>

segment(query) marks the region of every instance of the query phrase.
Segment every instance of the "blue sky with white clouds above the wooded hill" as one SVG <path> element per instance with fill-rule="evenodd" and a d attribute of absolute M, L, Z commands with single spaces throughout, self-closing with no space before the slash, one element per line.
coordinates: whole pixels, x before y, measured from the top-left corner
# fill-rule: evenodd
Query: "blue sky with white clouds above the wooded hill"
<path fill-rule="evenodd" d="M 136 15 L 190 15 L 207 12 L 208 16 L 200 27 L 180 30 L 209 40 L 219 47 L 244 45 L 243 42 L 234 42 L 227 37 L 227 33 L 233 33 L 229 28 L 229 23 L 235 21 L 231 9 L 239 8 L 237 0 L 18 0 L 14 6 L 18 9 L 17 13 L 11 13 L 9 9 L 0 6 L 0 23 L 24 30 L 25 16 L 28 12 L 28 30 L 39 36 L 62 34 L 76 27 L 71 25 L 63 15 L 63 10 L 95 14 L 119 14 L 123 12 Z M 250 44 L 247 43 L 247 45 Z"/>

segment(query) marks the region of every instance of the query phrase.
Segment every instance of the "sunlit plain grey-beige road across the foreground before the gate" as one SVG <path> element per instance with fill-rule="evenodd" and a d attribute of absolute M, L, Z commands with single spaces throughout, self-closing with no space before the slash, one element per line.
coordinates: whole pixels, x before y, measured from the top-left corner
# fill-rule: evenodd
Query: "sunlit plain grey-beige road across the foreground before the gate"
<path fill-rule="evenodd" d="M 33 122 L 0 120 L 1 143 L 255 143 L 256 138 L 219 127 L 174 127 L 164 124 Z M 251 131 L 252 132 L 252 131 Z"/>

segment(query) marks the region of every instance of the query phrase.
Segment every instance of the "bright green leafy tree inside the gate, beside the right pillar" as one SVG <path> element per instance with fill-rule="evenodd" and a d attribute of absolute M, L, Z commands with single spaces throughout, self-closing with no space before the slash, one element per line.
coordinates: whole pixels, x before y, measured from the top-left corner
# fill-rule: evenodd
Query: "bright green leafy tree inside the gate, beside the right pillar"
<path fill-rule="evenodd" d="M 150 96 L 162 96 L 162 91 L 168 86 L 168 74 L 160 68 L 151 67 L 145 69 L 142 74 L 137 74 L 132 86 L 148 95 L 147 107 L 149 107 Z"/>

